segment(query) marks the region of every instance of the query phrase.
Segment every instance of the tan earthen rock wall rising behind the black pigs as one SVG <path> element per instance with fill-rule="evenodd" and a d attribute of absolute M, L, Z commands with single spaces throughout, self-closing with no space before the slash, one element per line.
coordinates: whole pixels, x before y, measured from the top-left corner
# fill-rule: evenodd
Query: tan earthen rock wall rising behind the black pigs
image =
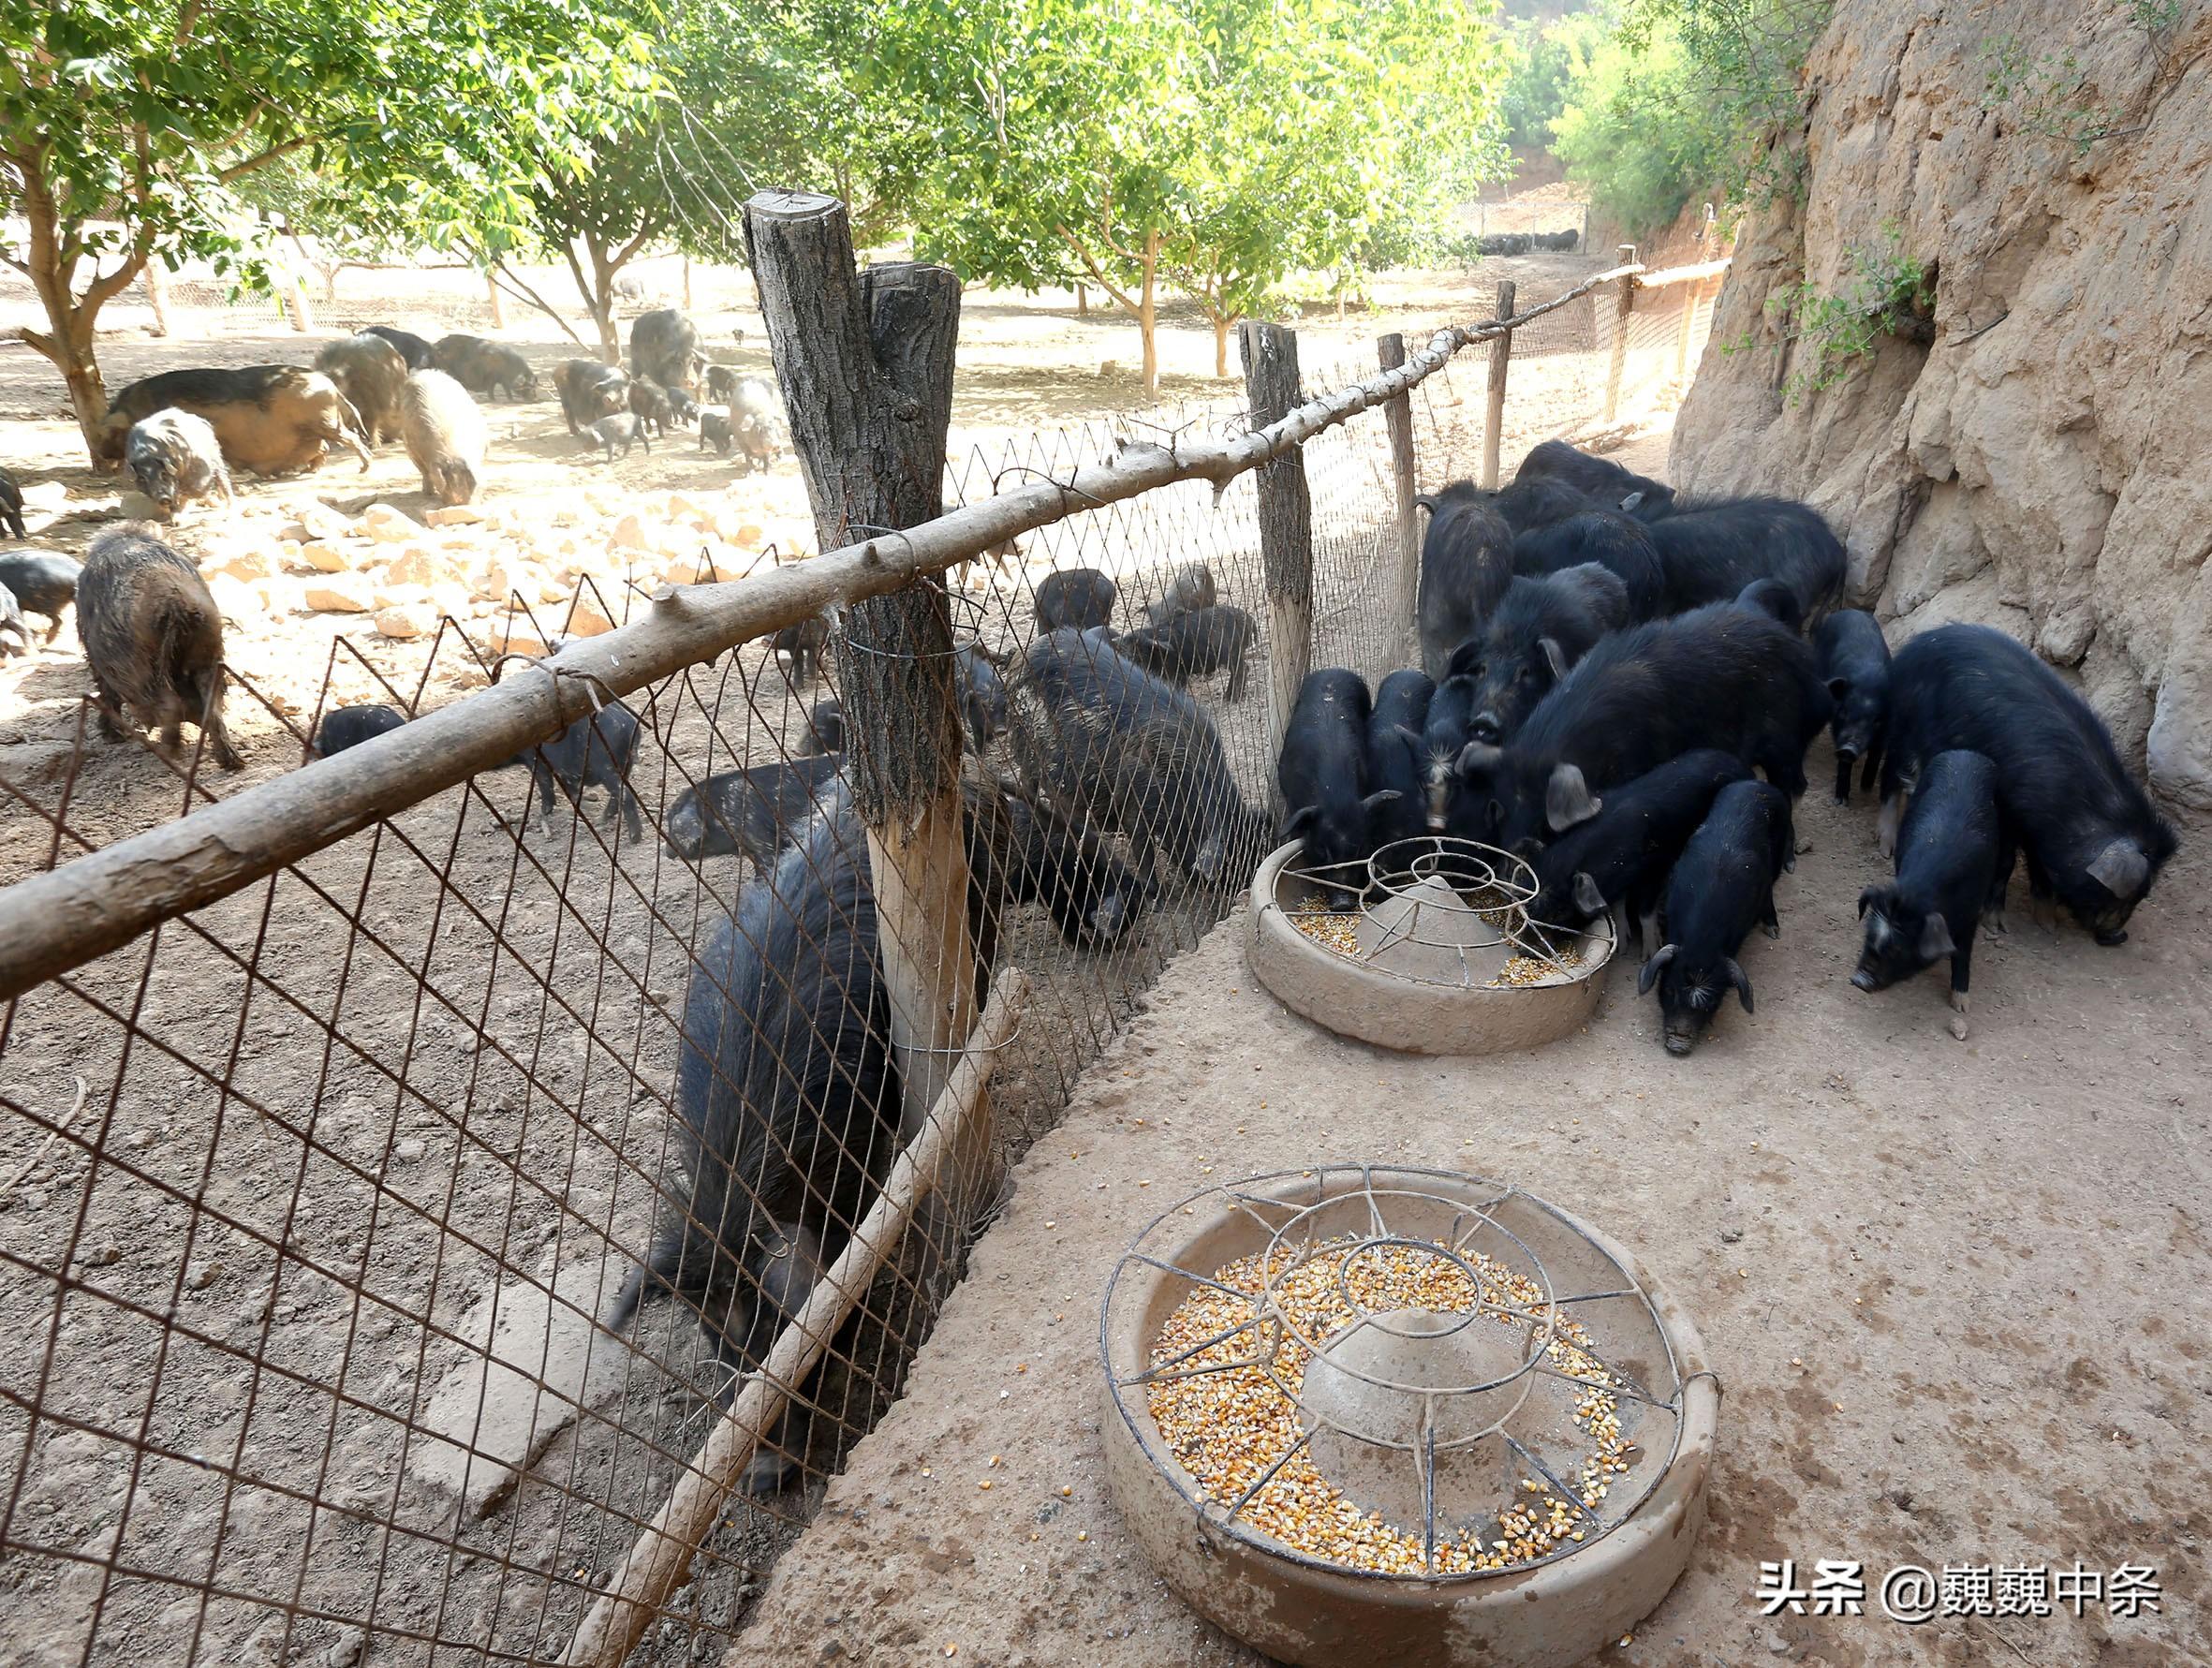
<path fill-rule="evenodd" d="M 2159 792 L 2212 807 L 2212 0 L 2157 38 L 2137 11 L 1838 0 L 1807 62 L 1805 197 L 1739 239 L 1672 471 L 1807 498 L 1891 642 L 2011 630 Z M 2008 38 L 2033 69 L 1993 97 Z M 2066 128 L 2110 133 L 2084 150 Z M 1801 350 L 1767 296 L 1836 290 L 1885 226 L 1936 265 L 1936 341 L 1885 338 L 1785 405 Z"/>

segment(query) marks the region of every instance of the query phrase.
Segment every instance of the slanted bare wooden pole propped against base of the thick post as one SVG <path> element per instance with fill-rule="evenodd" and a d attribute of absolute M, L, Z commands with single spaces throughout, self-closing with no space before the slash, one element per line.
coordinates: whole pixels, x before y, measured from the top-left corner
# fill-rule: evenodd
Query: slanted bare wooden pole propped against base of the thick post
<path fill-rule="evenodd" d="M 947 1073 L 945 1093 L 929 1108 L 914 1141 L 891 1164 L 883 1192 L 869 1206 L 860 1228 L 838 1259 L 823 1270 L 799 1314 L 776 1334 L 761 1369 L 745 1378 L 730 1411 L 708 1434 L 706 1445 L 668 1495 L 668 1504 L 659 1509 L 648 1529 L 639 1531 L 608 1582 L 608 1591 L 591 1606 L 562 1653 L 562 1664 L 568 1668 L 622 1668 L 655 1615 L 684 1584 L 692 1555 L 714 1531 L 723 1502 L 761 1447 L 761 1434 L 776 1427 L 790 1405 L 792 1387 L 805 1383 L 805 1376 L 830 1349 L 836 1330 L 845 1325 L 845 1316 L 867 1296 L 876 1270 L 898 1250 L 920 1203 L 933 1197 L 938 1179 L 947 1175 L 951 1155 L 967 1144 L 969 1126 L 984 1119 L 984 1088 L 991 1082 L 991 1066 L 998 1064 L 998 1051 L 1022 1022 L 1026 995 L 1029 984 L 1020 971 L 1009 969 L 1000 976 L 982 1024 L 975 1026 L 953 1071 Z"/>

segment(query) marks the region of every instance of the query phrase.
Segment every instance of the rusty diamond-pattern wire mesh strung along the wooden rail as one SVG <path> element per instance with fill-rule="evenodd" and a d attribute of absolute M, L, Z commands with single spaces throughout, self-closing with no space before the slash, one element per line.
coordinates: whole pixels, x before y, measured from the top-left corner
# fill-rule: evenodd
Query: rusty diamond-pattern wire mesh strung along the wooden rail
<path fill-rule="evenodd" d="M 1632 314 L 1624 416 L 1668 398 L 1672 299 L 1688 294 L 1652 292 Z M 1601 316 L 1584 299 L 1517 334 L 1509 465 L 1595 423 Z M 1305 387 L 1371 374 L 1307 367 Z M 1482 352 L 1462 354 L 1413 392 L 1422 489 L 1480 469 L 1484 374 Z M 1241 423 L 1223 400 L 1040 431 L 998 458 L 953 458 L 947 498 L 1068 480 L 1124 438 L 1221 438 Z M 1383 411 L 1316 436 L 1305 469 L 1312 664 L 1378 677 L 1400 664 L 1409 613 Z M 792 1387 L 761 1491 L 726 1502 L 633 1661 L 719 1657 L 843 1449 L 900 1391 L 1004 1166 L 1272 843 L 1254 504 L 1250 476 L 1219 502 L 1206 484 L 1071 502 L 1018 553 L 949 575 L 953 624 L 1000 661 L 1009 706 L 998 719 L 984 690 L 991 732 L 964 763 L 967 847 L 987 876 L 973 931 L 980 956 L 1020 967 L 1031 989 L 998 1057 L 991 1150 L 940 1177 L 962 1208 L 918 1219 L 823 1367 Z M 1108 573 L 1128 633 L 1188 562 L 1206 562 L 1219 604 L 1259 633 L 1239 699 L 1225 668 L 1188 688 L 1252 821 L 1210 878 L 1164 849 L 1146 883 L 1141 832 L 1106 827 L 1024 765 L 1015 730 L 1073 746 L 1079 721 L 1024 657 L 1051 575 Z M 617 622 L 648 606 L 635 588 L 593 600 Z M 560 615 L 538 613 L 542 637 L 560 637 Z M 0 1011 L 0 1330 L 13 1341 L 0 1352 L 0 1655 L 274 1666 L 347 1661 L 363 1644 L 376 1664 L 562 1650 L 765 1349 L 779 1310 L 763 1281 L 834 1254 L 898 1141 L 874 907 L 854 887 L 865 845 L 834 781 L 781 807 L 684 810 L 734 770 L 785 785 L 825 770 L 810 763 L 807 712 L 836 695 L 841 648 L 832 630 L 823 666 L 801 675 L 772 644 L 741 644 L 628 697 L 635 832 L 597 783 L 577 807 L 553 792 L 542 812 L 526 770 L 484 772 Z M 252 668 L 232 668 L 228 699 L 234 721 L 259 708 L 281 750 L 299 748 L 292 765 L 336 690 L 418 712 L 493 670 L 542 677 L 493 666 L 447 622 L 409 688 L 341 644 L 312 703 L 259 688 Z M 938 673 L 967 692 L 956 661 Z M 80 719 L 66 759 L 0 781 L 15 874 L 252 792 L 190 737 L 166 759 L 102 741 L 88 703 Z M 252 750 L 261 776 L 279 748 Z M 91 779 L 111 790 L 100 810 L 80 801 Z M 1155 788 L 1168 821 L 1210 814 L 1194 774 Z M 1102 892 L 1126 905 L 1117 936 L 1091 931 Z M 717 1053 L 739 1033 L 743 1077 Z M 750 1157 L 717 1172 L 757 1254 L 743 1268 L 717 1257 L 710 1290 L 648 1294 L 608 1327 L 655 1223 L 697 1210 L 701 1168 L 717 1168 L 684 1144 L 686 1108 L 697 1117 L 712 1095 L 805 1099 L 816 1139 L 754 1119 Z"/>

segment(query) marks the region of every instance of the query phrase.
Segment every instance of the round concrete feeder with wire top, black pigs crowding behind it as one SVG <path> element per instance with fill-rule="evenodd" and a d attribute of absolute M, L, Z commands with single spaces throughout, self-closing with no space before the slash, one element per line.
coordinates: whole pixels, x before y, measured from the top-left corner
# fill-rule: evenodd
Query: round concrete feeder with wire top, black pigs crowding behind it
<path fill-rule="evenodd" d="M 1365 865 L 1314 867 L 1298 863 L 1301 849 L 1285 845 L 1259 865 L 1245 960 L 1314 1024 L 1407 1053 L 1500 1053 L 1553 1042 L 1597 1007 L 1613 922 L 1531 920 L 1535 876 L 1509 852 L 1425 834 Z M 1354 907 L 1332 909 L 1332 894 Z M 1301 931 L 1301 920 L 1340 942 Z"/>

